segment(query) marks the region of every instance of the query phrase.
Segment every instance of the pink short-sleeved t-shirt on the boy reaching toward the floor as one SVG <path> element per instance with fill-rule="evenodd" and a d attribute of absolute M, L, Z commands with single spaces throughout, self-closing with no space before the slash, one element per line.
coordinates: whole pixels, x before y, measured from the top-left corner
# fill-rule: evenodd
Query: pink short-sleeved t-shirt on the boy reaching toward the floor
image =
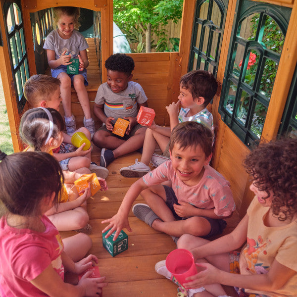
<path fill-rule="evenodd" d="M 147 186 L 164 181 L 172 182 L 172 189 L 178 200 L 188 202 L 201 209 L 212 209 L 218 216 L 229 216 L 235 210 L 230 184 L 209 165 L 204 166 L 204 174 L 197 185 L 189 187 L 177 176 L 171 161 L 158 166 L 143 177 Z"/>

